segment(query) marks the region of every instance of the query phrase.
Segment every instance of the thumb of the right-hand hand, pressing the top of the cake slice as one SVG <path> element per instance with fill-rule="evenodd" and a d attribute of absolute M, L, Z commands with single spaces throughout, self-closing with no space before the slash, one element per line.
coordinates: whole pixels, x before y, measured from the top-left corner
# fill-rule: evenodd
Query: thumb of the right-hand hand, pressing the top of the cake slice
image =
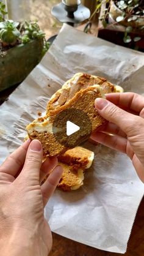
<path fill-rule="evenodd" d="M 103 116 L 107 121 L 117 124 L 118 127 L 126 133 L 128 137 L 133 137 L 144 132 L 144 120 L 140 116 L 132 115 L 122 110 L 109 100 L 97 98 L 95 107 L 99 115 Z"/>

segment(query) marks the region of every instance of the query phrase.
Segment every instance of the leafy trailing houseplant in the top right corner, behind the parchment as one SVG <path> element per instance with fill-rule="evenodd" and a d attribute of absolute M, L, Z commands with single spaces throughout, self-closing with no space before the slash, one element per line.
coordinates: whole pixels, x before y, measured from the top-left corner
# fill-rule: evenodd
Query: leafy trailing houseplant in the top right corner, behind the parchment
<path fill-rule="evenodd" d="M 104 8 L 102 8 L 104 6 Z M 100 12 L 101 10 L 101 12 Z M 131 32 L 143 34 L 144 1 L 143 0 L 96 0 L 95 13 L 100 12 L 99 20 L 103 27 L 122 25 L 123 42 L 138 42 L 141 36 L 131 37 Z M 94 13 L 93 13 L 94 14 Z"/>

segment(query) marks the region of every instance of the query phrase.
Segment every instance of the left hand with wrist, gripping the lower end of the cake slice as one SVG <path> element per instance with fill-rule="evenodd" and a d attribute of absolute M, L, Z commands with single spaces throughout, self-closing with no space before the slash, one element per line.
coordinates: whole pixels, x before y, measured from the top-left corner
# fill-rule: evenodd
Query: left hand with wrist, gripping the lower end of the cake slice
<path fill-rule="evenodd" d="M 52 235 L 44 207 L 63 170 L 57 166 L 57 157 L 41 164 L 42 159 L 40 141 L 29 140 L 0 167 L 0 255 L 48 256 Z"/>

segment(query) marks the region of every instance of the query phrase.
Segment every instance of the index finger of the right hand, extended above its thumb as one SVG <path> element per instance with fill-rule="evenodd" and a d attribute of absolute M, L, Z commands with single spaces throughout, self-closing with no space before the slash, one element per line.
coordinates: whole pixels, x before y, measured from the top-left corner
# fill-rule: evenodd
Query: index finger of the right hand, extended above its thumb
<path fill-rule="evenodd" d="M 139 113 L 144 108 L 144 97 L 134 92 L 110 93 L 106 94 L 106 99 L 119 107 Z"/>

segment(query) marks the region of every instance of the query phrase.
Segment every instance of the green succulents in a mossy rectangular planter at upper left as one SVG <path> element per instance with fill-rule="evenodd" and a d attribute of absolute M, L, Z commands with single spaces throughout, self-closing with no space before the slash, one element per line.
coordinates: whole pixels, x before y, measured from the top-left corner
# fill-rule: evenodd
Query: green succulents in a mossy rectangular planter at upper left
<path fill-rule="evenodd" d="M 5 20 L 5 14 L 0 2 L 0 91 L 23 81 L 49 47 L 37 22 Z"/>

